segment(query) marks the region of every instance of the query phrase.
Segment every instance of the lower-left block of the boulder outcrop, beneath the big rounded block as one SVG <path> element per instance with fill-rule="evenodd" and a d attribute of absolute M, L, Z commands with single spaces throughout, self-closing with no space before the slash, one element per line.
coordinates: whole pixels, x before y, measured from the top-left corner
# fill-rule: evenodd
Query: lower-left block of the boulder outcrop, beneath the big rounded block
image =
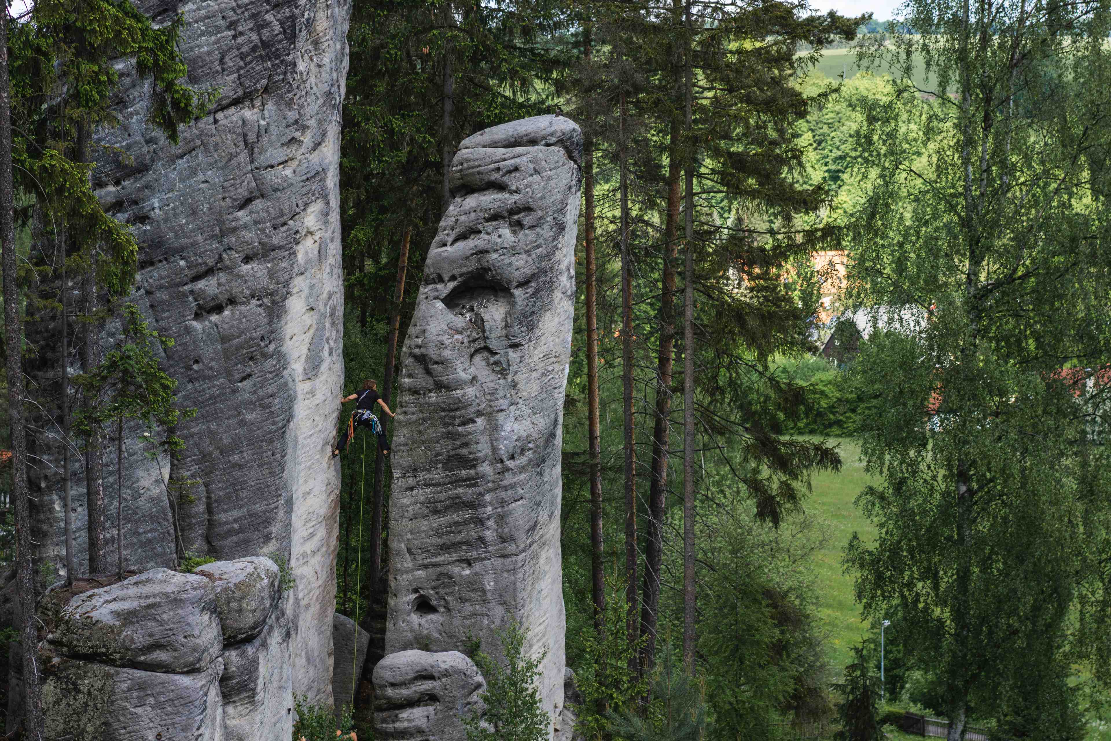
<path fill-rule="evenodd" d="M 222 671 L 219 659 L 190 674 L 58 660 L 42 687 L 47 738 L 224 741 Z"/>

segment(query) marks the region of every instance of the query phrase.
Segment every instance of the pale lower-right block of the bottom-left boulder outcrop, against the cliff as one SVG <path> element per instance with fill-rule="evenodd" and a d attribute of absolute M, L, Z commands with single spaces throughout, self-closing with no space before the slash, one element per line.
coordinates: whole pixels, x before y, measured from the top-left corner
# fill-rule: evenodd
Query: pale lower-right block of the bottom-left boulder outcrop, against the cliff
<path fill-rule="evenodd" d="M 284 600 L 257 638 L 226 649 L 222 659 L 226 741 L 291 738 L 293 665 Z"/>

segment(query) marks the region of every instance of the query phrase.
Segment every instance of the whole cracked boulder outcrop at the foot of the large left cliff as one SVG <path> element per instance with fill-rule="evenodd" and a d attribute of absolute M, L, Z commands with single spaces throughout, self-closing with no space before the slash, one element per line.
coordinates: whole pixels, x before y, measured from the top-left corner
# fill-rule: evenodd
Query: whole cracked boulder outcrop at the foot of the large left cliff
<path fill-rule="evenodd" d="M 73 598 L 41 654 L 48 737 L 289 739 L 289 600 L 280 589 L 276 595 L 278 582 L 250 575 L 271 571 L 278 568 L 269 559 L 253 558 L 208 564 L 197 574 L 154 569 Z M 237 599 L 226 599 L 229 592 Z M 241 628 L 243 604 L 252 605 L 253 632 Z M 222 628 L 224 618 L 234 625 L 231 631 Z M 224 639 L 229 633 L 234 642 Z M 21 687 L 18 671 L 12 680 Z M 19 714 L 20 708 L 9 704 L 9 719 Z"/>

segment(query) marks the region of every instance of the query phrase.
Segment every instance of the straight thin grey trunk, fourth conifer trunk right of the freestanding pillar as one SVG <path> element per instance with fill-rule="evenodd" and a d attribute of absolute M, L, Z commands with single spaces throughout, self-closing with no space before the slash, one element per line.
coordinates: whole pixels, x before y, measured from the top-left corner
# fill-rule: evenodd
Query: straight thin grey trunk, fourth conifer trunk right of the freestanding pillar
<path fill-rule="evenodd" d="M 693 122 L 691 70 L 691 0 L 687 0 L 687 202 L 683 266 L 683 664 L 694 675 L 694 158 L 690 151 Z"/>

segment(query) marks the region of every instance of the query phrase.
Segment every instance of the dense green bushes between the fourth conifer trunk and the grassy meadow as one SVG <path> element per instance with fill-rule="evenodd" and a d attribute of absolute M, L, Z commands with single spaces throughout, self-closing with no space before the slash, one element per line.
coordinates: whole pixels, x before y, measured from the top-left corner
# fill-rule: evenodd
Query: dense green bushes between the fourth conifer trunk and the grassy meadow
<path fill-rule="evenodd" d="M 722 480 L 711 479 L 711 490 Z M 787 722 L 821 731 L 831 711 L 827 657 L 812 572 L 801 565 L 821 539 L 805 517 L 770 530 L 754 521 L 752 504 L 724 501 L 729 514 L 702 508 L 708 522 L 699 533 L 711 567 L 699 589 L 698 650 L 713 721 L 707 738 L 778 739 Z"/>

